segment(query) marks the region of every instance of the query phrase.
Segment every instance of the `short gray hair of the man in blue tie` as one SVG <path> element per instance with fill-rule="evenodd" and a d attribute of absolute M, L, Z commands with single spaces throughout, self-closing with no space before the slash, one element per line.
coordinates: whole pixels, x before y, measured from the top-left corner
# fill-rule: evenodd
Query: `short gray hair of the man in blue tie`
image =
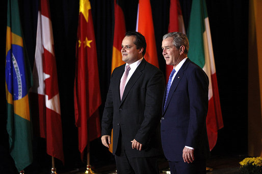
<path fill-rule="evenodd" d="M 169 37 L 173 38 L 173 45 L 176 47 L 176 49 L 179 49 L 182 45 L 184 45 L 184 52 L 188 54 L 189 42 L 186 34 L 181 32 L 169 32 L 163 36 L 163 40 Z"/>

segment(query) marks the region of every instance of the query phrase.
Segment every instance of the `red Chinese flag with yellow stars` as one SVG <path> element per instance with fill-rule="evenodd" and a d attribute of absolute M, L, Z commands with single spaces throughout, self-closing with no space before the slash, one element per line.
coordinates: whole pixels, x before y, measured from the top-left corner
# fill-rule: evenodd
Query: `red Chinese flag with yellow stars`
<path fill-rule="evenodd" d="M 88 142 L 101 135 L 98 108 L 101 105 L 95 33 L 91 5 L 80 0 L 74 82 L 75 125 L 78 149 L 83 152 Z"/>

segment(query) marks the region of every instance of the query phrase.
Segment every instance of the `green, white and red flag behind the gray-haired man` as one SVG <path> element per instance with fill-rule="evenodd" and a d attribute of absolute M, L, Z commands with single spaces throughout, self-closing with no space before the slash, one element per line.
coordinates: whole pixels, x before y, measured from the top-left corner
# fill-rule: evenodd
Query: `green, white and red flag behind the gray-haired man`
<path fill-rule="evenodd" d="M 188 39 L 190 43 L 188 57 L 203 68 L 209 79 L 209 102 L 206 117 L 206 128 L 209 149 L 212 150 L 217 142 L 218 130 L 224 125 L 220 107 L 216 67 L 205 0 L 192 1 L 192 9 L 188 27 Z"/>

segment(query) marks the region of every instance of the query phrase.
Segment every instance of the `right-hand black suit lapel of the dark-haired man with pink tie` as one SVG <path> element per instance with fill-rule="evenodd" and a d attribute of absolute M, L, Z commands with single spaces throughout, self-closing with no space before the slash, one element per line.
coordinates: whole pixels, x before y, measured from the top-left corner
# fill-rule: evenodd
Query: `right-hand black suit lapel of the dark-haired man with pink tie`
<path fill-rule="evenodd" d="M 131 76 L 131 78 L 128 80 L 125 89 L 124 89 L 124 93 L 122 96 L 122 100 L 120 105 L 123 103 L 123 101 L 125 100 L 127 94 L 129 93 L 130 89 L 132 89 L 132 87 L 134 86 L 134 84 L 136 83 L 136 81 L 140 78 L 140 76 L 143 74 L 143 70 L 145 68 L 145 64 L 146 64 L 146 60 L 143 58 L 141 63 L 138 65 L 136 71 L 134 72 L 134 74 Z M 120 78 L 121 79 L 121 78 Z M 120 95 L 120 94 L 119 94 Z"/>

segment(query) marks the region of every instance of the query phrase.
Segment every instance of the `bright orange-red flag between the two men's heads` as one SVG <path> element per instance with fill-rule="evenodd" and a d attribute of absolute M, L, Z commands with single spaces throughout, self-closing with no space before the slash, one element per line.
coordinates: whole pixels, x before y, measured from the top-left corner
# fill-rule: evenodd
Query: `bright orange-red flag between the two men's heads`
<path fill-rule="evenodd" d="M 156 53 L 154 25 L 152 18 L 151 5 L 149 0 L 139 0 L 138 15 L 137 15 L 137 29 L 143 34 L 146 39 L 146 54 L 145 59 L 159 67 L 158 53 Z"/>

